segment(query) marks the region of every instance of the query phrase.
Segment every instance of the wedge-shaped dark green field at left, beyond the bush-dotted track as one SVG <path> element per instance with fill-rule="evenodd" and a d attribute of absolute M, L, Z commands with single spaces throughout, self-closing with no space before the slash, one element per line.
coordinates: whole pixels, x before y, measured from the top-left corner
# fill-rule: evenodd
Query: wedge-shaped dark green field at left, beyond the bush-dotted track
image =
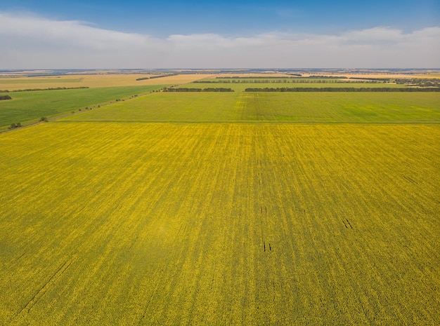
<path fill-rule="evenodd" d="M 0 129 L 2 127 L 4 129 L 11 123 L 35 122 L 41 116 L 58 116 L 59 114 L 78 111 L 78 109 L 104 104 L 131 95 L 140 95 L 159 88 L 162 88 L 162 86 L 124 86 L 0 93 L 0 95 L 9 95 L 13 98 L 13 100 L 0 101 Z"/>

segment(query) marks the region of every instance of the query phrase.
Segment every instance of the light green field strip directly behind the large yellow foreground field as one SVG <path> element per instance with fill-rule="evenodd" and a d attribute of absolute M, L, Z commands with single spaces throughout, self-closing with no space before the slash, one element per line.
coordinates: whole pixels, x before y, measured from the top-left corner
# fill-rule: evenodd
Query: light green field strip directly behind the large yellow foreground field
<path fill-rule="evenodd" d="M 440 93 L 154 93 L 63 121 L 439 123 Z"/>

